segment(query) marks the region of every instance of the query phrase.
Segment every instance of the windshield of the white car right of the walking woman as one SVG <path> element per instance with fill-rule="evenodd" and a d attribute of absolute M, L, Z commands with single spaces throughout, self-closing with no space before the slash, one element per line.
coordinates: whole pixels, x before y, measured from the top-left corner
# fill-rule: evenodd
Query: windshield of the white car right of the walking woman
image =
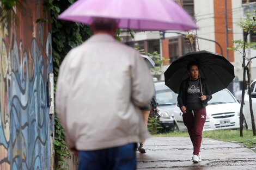
<path fill-rule="evenodd" d="M 235 103 L 236 100 L 227 90 L 221 90 L 212 95 L 212 99 L 208 102 L 211 104 Z"/>

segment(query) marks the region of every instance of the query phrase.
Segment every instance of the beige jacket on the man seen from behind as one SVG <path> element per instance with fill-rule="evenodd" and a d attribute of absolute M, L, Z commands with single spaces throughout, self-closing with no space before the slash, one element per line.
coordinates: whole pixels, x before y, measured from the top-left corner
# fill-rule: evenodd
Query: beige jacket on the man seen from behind
<path fill-rule="evenodd" d="M 59 70 L 57 117 L 69 148 L 96 150 L 149 136 L 138 106 L 154 95 L 140 54 L 108 34 L 96 34 L 66 55 Z"/>

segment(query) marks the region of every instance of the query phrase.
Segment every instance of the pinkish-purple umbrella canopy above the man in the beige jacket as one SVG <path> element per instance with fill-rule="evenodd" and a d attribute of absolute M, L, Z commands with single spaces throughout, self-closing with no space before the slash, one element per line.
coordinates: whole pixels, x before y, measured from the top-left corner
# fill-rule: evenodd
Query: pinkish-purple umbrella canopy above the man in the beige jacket
<path fill-rule="evenodd" d="M 78 0 L 58 18 L 90 24 L 94 17 L 114 18 L 119 28 L 135 30 L 197 29 L 173 0 Z"/>

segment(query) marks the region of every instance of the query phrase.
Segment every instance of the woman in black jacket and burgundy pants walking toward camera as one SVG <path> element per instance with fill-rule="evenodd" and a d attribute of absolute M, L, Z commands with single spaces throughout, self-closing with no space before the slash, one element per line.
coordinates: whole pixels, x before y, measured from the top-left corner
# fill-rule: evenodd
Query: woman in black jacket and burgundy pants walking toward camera
<path fill-rule="evenodd" d="M 192 161 L 198 163 L 202 161 L 200 147 L 206 120 L 205 106 L 212 96 L 206 80 L 200 78 L 197 62 L 190 62 L 187 65 L 187 72 L 190 78 L 182 81 L 180 85 L 178 104 L 193 144 Z"/>

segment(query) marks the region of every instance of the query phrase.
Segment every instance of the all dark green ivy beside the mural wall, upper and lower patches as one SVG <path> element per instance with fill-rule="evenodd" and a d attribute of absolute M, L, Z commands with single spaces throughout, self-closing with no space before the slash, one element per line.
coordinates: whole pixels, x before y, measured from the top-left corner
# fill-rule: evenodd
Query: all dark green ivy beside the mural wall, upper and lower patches
<path fill-rule="evenodd" d="M 74 0 L 45 0 L 45 11 L 51 11 L 51 18 L 50 20 L 39 20 L 52 23 L 52 55 L 55 84 L 58 78 L 59 66 L 65 55 L 92 35 L 90 28 L 84 26 L 84 24 L 57 19 L 58 15 L 74 2 Z M 58 115 L 56 116 L 58 117 Z M 69 169 L 66 160 L 70 159 L 71 154 L 64 140 L 64 130 L 57 117 L 54 119 L 55 137 L 53 141 L 56 169 Z"/>

